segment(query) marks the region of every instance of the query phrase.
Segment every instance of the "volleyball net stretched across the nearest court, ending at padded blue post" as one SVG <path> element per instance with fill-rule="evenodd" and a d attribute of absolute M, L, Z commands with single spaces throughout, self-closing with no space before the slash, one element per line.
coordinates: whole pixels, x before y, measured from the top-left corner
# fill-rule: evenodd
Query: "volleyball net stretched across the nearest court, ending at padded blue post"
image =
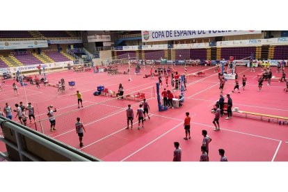
<path fill-rule="evenodd" d="M 38 120 L 35 122 L 36 130 L 42 132 L 42 134 L 65 134 L 69 131 L 74 131 L 75 122 L 77 118 L 81 118 L 81 122 L 84 125 L 90 125 L 95 122 L 99 122 L 105 118 L 113 119 L 113 115 L 118 113 L 125 113 L 128 104 L 138 107 L 138 104 L 146 99 L 147 101 L 155 97 L 154 86 L 144 88 L 141 90 L 127 90 L 124 95 L 116 95 L 113 91 L 102 93 L 97 97 L 104 99 L 102 102 L 90 104 L 90 106 L 84 106 L 81 109 L 74 109 L 65 113 L 60 113 L 60 110 L 54 112 L 54 118 L 56 120 L 57 131 L 50 131 L 49 117 Z M 47 111 L 48 113 L 48 111 Z M 97 126 L 106 126 L 101 124 L 95 124 Z"/>

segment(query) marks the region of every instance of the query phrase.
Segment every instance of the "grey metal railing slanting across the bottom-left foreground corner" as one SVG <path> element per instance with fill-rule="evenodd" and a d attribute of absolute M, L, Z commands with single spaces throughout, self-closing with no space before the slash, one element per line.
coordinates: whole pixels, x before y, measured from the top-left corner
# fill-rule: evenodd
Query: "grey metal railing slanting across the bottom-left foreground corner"
<path fill-rule="evenodd" d="M 0 141 L 8 146 L 8 155 L 1 152 L 0 156 L 8 161 L 17 161 L 11 157 L 19 157 L 19 161 L 101 161 L 7 118 L 0 117 L 0 125 L 3 131 Z M 51 155 L 45 159 L 47 153 Z"/>

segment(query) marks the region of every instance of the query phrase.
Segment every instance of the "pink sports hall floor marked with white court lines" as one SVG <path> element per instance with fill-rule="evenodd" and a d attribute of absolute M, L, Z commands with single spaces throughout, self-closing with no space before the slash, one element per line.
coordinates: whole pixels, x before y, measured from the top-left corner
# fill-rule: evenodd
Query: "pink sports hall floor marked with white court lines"
<path fill-rule="evenodd" d="M 132 81 L 128 81 L 129 75 L 109 75 L 107 72 L 55 72 L 47 74 L 49 83 L 57 83 L 61 78 L 65 79 L 66 91 L 58 94 L 57 88 L 51 86 L 35 85 L 19 86 L 19 95 L 13 93 L 13 80 L 6 81 L 0 92 L 1 111 L 5 103 L 15 108 L 19 102 L 31 102 L 35 108 L 36 121 L 42 120 L 44 133 L 58 141 L 67 143 L 83 152 L 93 155 L 103 161 L 172 161 L 173 142 L 178 141 L 182 148 L 182 161 L 199 161 L 200 146 L 202 145 L 202 129 L 208 131 L 212 138 L 209 145 L 210 161 L 219 161 L 218 149 L 223 148 L 228 161 L 288 161 L 288 126 L 278 125 L 276 122 L 259 120 L 255 118 L 243 118 L 233 115 L 232 119 L 225 120 L 226 115 L 219 120 L 221 131 L 213 131 L 211 113 L 216 100 L 219 99 L 220 90 L 218 74 L 214 70 L 207 70 L 203 77 L 189 77 L 187 90 L 184 91 L 184 105 L 180 108 L 158 111 L 156 83 L 158 79 L 143 78 L 150 70 L 141 70 L 141 74 L 131 73 Z M 205 70 L 208 67 L 187 67 L 188 73 Z M 178 72 L 184 72 L 183 66 L 174 66 Z M 271 86 L 264 86 L 259 92 L 257 87 L 257 74 L 250 72 L 247 67 L 237 67 L 240 81 L 241 93 L 231 93 L 234 88 L 234 81 L 228 80 L 225 83 L 223 95 L 230 93 L 233 107 L 239 107 L 241 111 L 265 113 L 269 115 L 288 116 L 288 99 L 285 91 L 285 83 L 272 81 Z M 280 76 L 272 67 L 273 75 Z M 248 81 L 246 90 L 242 90 L 241 77 L 246 75 Z M 165 79 L 162 79 L 165 83 Z M 75 81 L 76 86 L 67 86 L 68 81 Z M 138 130 L 135 110 L 138 102 L 134 100 L 117 100 L 111 97 L 94 96 L 93 92 L 97 86 L 105 86 L 109 90 L 118 90 L 119 83 L 122 83 L 125 93 L 132 93 L 137 90 L 152 90 L 154 86 L 154 97 L 148 97 L 150 104 L 150 120 L 145 120 L 144 128 Z M 170 78 L 169 87 L 170 88 Z M 77 96 L 71 96 L 79 90 L 83 95 L 83 109 L 77 109 Z M 145 90 L 145 91 L 147 91 Z M 163 88 L 160 89 L 160 93 Z M 225 97 L 225 101 L 227 98 Z M 119 104 L 122 102 L 122 104 Z M 47 124 L 47 106 L 53 104 L 57 109 L 56 128 L 57 131 L 50 132 Z M 126 112 L 127 105 L 131 104 L 134 109 L 134 129 L 127 127 Z M 185 112 L 191 115 L 191 136 L 185 141 L 184 117 Z M 71 115 L 65 115 L 70 112 Z M 63 115 L 61 115 L 63 114 Z M 13 113 L 13 120 L 16 113 Z M 59 115 L 59 116 L 57 116 Z M 79 147 L 79 138 L 75 132 L 74 122 L 79 116 L 84 123 L 84 147 Z M 29 123 L 31 129 L 35 129 L 33 123 Z M 38 131 L 40 126 L 37 127 Z M 0 130 L 0 135 L 2 134 Z M 5 152 L 6 148 L 0 143 L 0 151 Z"/>

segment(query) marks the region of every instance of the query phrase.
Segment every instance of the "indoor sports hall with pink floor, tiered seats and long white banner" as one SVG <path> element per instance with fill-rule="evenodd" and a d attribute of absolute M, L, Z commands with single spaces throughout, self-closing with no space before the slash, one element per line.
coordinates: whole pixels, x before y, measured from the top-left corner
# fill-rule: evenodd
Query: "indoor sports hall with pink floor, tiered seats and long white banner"
<path fill-rule="evenodd" d="M 211 138 L 209 161 L 220 161 L 219 149 L 228 161 L 287 161 L 287 36 L 287 31 L 0 31 L 1 161 L 61 161 L 35 149 L 33 134 L 93 161 L 173 161 L 174 142 L 181 161 L 200 161 L 202 130 Z M 173 106 L 163 102 L 164 88 Z M 149 118 L 144 115 L 138 124 L 143 99 Z M 24 115 L 15 106 L 20 102 Z M 35 120 L 29 120 L 29 103 Z M 131 122 L 127 129 L 128 105 L 133 129 Z M 77 118 L 85 128 L 80 145 Z M 29 136 L 20 131 L 20 141 L 12 125 Z"/>

